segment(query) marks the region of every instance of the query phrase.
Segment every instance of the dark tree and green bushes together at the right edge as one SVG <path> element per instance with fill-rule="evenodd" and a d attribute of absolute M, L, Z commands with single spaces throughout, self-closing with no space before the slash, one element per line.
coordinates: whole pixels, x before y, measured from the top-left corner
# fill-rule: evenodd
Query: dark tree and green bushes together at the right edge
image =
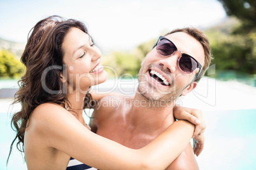
<path fill-rule="evenodd" d="M 229 25 L 226 32 L 220 31 L 227 30 L 224 25 L 208 30 L 215 68 L 256 74 L 256 1 L 218 1 L 238 22 Z"/>

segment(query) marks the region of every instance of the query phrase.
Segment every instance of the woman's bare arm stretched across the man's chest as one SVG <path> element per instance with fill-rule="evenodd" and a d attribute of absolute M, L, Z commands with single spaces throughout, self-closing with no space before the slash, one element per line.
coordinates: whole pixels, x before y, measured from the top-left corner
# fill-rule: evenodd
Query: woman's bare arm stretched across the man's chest
<path fill-rule="evenodd" d="M 34 110 L 29 124 L 53 147 L 98 169 L 165 169 L 187 147 L 194 125 L 176 121 L 145 147 L 134 150 L 92 133 L 58 105 Z"/>

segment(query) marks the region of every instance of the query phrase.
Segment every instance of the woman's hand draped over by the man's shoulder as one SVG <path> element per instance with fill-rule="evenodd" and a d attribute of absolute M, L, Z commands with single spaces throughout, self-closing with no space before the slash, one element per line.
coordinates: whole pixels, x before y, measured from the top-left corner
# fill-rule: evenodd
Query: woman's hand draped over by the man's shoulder
<path fill-rule="evenodd" d="M 206 129 L 206 124 L 203 118 L 203 112 L 194 108 L 186 107 L 174 107 L 173 115 L 175 119 L 182 119 L 191 122 L 196 125 L 193 140 L 194 140 L 194 154 L 197 156 L 201 154 L 204 148 L 204 131 Z"/>

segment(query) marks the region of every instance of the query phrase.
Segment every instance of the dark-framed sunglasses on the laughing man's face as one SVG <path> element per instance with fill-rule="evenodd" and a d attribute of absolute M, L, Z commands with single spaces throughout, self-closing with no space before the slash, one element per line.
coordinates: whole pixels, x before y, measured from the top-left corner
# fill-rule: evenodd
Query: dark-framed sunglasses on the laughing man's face
<path fill-rule="evenodd" d="M 157 53 L 159 53 L 159 55 L 162 55 L 162 56 L 172 56 L 175 53 L 175 51 L 180 51 L 176 48 L 173 42 L 171 42 L 169 39 L 163 36 L 159 37 L 157 42 L 155 42 L 155 45 L 153 46 L 153 48 L 155 48 L 155 46 L 157 46 Z M 181 56 L 178 59 L 180 70 L 182 70 L 187 74 L 190 74 L 194 72 L 194 70 L 199 68 L 200 70 L 199 70 L 199 73 L 197 74 L 197 77 L 198 77 L 198 75 L 201 72 L 202 65 L 199 62 L 197 62 L 197 60 L 192 56 L 182 53 L 181 51 L 180 53 L 181 53 Z"/>

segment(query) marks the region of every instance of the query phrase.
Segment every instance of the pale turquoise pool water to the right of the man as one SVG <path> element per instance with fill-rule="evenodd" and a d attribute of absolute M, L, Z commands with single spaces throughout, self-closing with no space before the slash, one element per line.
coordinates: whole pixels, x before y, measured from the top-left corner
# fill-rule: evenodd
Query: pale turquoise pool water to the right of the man
<path fill-rule="evenodd" d="M 256 169 L 256 110 L 205 112 L 200 169 Z"/>

